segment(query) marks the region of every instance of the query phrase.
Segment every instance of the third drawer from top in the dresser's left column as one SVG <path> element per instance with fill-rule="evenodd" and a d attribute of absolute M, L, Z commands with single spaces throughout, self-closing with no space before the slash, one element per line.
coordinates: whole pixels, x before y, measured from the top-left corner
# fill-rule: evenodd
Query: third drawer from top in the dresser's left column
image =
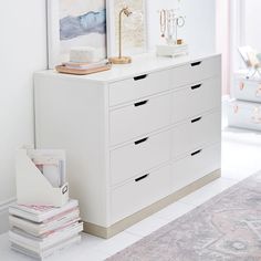
<path fill-rule="evenodd" d="M 170 159 L 170 130 L 144 137 L 111 152 L 111 184 L 114 186 Z"/>

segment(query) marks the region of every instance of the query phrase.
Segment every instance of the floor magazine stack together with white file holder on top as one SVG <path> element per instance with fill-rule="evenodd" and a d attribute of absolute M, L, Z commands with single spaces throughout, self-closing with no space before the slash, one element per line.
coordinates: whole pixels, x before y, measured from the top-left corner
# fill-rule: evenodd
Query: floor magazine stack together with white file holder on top
<path fill-rule="evenodd" d="M 13 250 L 42 260 L 81 241 L 79 201 L 69 198 L 64 166 L 64 150 L 17 152 L 17 202 L 9 207 Z"/>

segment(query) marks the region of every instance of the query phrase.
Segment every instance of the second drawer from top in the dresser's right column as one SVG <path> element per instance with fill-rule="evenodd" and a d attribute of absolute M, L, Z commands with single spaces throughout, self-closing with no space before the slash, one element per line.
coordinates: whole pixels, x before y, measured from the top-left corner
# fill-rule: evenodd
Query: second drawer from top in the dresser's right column
<path fill-rule="evenodd" d="M 220 77 L 182 87 L 173 95 L 173 123 L 220 107 Z"/>

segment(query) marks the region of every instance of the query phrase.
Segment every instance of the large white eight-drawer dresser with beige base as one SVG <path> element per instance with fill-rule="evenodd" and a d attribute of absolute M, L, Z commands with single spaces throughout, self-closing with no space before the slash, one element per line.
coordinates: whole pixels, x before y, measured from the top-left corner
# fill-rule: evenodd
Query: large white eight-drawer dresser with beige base
<path fill-rule="evenodd" d="M 220 176 L 221 58 L 34 75 L 36 147 L 64 148 L 85 231 L 126 229 Z"/>

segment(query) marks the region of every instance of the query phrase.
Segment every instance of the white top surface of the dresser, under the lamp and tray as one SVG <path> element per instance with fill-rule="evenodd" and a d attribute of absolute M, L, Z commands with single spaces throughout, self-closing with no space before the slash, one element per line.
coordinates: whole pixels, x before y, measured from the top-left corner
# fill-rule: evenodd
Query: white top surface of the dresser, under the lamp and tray
<path fill-rule="evenodd" d="M 88 75 L 72 75 L 58 73 L 54 70 L 45 70 L 36 72 L 36 76 L 53 76 L 53 77 L 69 77 L 69 79 L 81 79 L 92 82 L 109 83 L 136 75 L 147 74 L 156 71 L 167 70 L 176 66 L 181 66 L 187 63 L 206 60 L 220 54 L 213 53 L 208 55 L 185 55 L 179 58 L 163 58 L 156 56 L 153 53 L 145 53 L 140 55 L 134 55 L 130 64 L 113 65 L 112 70 L 88 74 Z"/>

